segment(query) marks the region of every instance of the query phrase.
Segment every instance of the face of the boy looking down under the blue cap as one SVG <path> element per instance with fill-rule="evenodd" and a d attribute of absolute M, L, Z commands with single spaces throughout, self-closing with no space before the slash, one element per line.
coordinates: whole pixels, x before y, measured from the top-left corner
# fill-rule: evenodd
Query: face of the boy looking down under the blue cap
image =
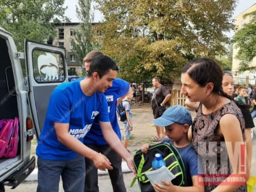
<path fill-rule="evenodd" d="M 185 134 L 187 134 L 187 129 L 182 124 L 174 123 L 170 126 L 165 126 L 165 135 L 171 141 L 179 141 Z"/>

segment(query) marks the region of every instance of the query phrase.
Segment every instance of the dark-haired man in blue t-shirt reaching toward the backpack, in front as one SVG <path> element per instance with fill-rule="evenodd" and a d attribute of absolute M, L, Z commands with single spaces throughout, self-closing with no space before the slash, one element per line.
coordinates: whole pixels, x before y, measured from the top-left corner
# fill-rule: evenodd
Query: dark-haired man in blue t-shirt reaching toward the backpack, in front
<path fill-rule="evenodd" d="M 65 191 L 84 191 L 84 157 L 89 158 L 98 169 L 113 169 L 105 155 L 83 144 L 95 118 L 98 118 L 107 143 L 135 173 L 132 155 L 112 129 L 103 94 L 112 87 L 117 71 L 118 66 L 112 59 L 97 55 L 85 79 L 63 83 L 52 92 L 36 149 L 38 192 L 59 191 L 60 176 Z"/>

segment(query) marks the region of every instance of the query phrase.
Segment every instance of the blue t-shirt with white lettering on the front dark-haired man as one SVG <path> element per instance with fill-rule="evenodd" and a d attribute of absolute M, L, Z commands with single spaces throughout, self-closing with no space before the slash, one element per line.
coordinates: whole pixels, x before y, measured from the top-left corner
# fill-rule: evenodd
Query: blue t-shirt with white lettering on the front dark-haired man
<path fill-rule="evenodd" d="M 92 96 L 86 96 L 80 88 L 81 80 L 60 84 L 52 92 L 44 127 L 38 139 L 38 157 L 70 160 L 77 156 L 76 152 L 57 140 L 54 122 L 69 123 L 69 134 L 83 141 L 96 117 L 99 121 L 110 121 L 104 94 L 94 93 Z"/>

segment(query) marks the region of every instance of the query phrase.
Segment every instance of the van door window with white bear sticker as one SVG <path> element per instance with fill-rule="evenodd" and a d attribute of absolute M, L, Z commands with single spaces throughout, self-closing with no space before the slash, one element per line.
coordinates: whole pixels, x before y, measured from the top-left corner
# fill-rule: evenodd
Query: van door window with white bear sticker
<path fill-rule="evenodd" d="M 38 51 L 32 52 L 34 79 L 38 83 L 62 82 L 64 58 L 61 54 Z"/>

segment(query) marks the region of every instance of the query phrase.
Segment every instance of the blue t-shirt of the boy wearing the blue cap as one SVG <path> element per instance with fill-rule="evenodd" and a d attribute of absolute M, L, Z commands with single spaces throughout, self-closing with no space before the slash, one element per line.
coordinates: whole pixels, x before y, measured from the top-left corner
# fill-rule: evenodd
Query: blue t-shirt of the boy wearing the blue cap
<path fill-rule="evenodd" d="M 169 143 L 169 144 L 174 145 L 174 143 L 172 141 L 170 141 L 169 138 L 165 138 L 162 141 L 162 143 Z M 183 160 L 183 163 L 185 166 L 185 171 L 186 171 L 186 176 L 187 176 L 187 185 L 193 186 L 191 177 L 202 174 L 201 163 L 196 154 L 196 151 L 194 151 L 192 144 L 185 146 L 184 148 L 176 148 L 176 149 L 179 151 L 180 156 L 182 157 L 182 160 Z"/>

